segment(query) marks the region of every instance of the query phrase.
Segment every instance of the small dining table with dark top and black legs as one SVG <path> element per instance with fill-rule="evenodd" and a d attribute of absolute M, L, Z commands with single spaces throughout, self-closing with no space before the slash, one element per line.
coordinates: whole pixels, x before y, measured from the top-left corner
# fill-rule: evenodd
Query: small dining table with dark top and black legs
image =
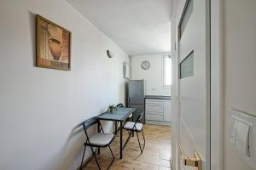
<path fill-rule="evenodd" d="M 106 111 L 102 115 L 97 116 L 98 120 L 120 122 L 120 159 L 123 158 L 123 122 L 136 111 L 135 108 L 117 108 L 116 111 L 109 112 Z M 100 127 L 98 126 L 98 132 L 100 132 Z M 98 152 L 100 149 L 98 148 Z"/>

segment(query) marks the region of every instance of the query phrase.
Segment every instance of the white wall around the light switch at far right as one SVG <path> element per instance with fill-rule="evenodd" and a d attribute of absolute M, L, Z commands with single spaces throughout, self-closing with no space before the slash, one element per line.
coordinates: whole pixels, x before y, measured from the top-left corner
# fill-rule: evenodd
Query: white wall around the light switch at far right
<path fill-rule="evenodd" d="M 228 141 L 228 109 L 256 116 L 256 1 L 224 1 L 224 170 L 253 170 Z"/>

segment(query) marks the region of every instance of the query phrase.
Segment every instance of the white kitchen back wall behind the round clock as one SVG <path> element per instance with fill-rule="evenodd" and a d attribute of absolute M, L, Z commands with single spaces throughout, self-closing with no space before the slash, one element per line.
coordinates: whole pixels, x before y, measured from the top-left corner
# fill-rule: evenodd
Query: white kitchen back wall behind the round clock
<path fill-rule="evenodd" d="M 150 62 L 149 70 L 141 68 L 144 60 Z M 163 88 L 163 54 L 132 56 L 131 79 L 145 81 L 146 95 L 171 95 L 171 88 Z"/>

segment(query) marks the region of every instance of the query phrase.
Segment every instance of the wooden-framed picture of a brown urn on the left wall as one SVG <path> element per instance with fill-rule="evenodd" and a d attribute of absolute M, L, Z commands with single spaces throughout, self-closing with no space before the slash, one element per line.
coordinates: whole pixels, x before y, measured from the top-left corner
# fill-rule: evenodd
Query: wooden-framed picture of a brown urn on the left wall
<path fill-rule="evenodd" d="M 70 71 L 71 32 L 37 15 L 37 66 Z"/>

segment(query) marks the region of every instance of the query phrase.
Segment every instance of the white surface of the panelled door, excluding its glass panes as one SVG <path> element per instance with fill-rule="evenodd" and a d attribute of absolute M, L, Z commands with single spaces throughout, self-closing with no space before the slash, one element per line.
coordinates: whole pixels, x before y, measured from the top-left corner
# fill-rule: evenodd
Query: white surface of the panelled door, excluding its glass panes
<path fill-rule="evenodd" d="M 179 143 L 187 156 L 195 151 L 201 154 L 203 169 L 206 168 L 209 147 L 207 143 L 207 116 L 209 95 L 207 51 L 207 0 L 190 0 L 193 12 L 189 17 L 181 39 L 178 41 L 178 61 L 181 63 L 194 51 L 194 76 L 179 79 Z M 180 2 L 181 5 L 184 1 Z M 182 13 L 180 13 L 182 14 Z M 179 16 L 181 17 L 181 16 Z M 210 147 L 209 147 L 210 148 Z M 182 161 L 179 161 L 182 164 Z M 195 169 L 184 167 L 182 169 Z"/>

